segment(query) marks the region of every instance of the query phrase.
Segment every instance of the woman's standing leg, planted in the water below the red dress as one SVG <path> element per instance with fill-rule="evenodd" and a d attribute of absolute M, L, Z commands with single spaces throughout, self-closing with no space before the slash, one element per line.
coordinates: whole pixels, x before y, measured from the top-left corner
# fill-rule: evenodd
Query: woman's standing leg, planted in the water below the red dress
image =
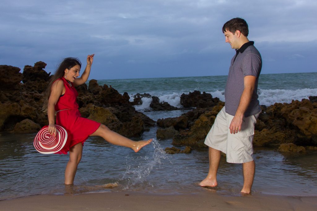
<path fill-rule="evenodd" d="M 69 161 L 65 169 L 65 184 L 71 185 L 74 183 L 77 166 L 81 160 L 82 143 L 78 143 L 69 149 Z"/>

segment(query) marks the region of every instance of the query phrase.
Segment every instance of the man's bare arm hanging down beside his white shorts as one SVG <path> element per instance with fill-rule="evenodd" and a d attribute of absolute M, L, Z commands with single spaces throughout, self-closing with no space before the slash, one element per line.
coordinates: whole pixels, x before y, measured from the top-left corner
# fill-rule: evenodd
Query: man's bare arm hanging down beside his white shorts
<path fill-rule="evenodd" d="M 256 84 L 255 76 L 244 77 L 244 90 L 240 98 L 240 103 L 236 111 L 236 115 L 233 117 L 229 126 L 230 133 L 233 133 L 233 134 L 237 133 L 236 128 L 238 128 L 238 131 L 241 131 L 243 115 L 244 115 L 244 112 L 247 110 L 249 103 L 251 101 L 255 84 Z"/>

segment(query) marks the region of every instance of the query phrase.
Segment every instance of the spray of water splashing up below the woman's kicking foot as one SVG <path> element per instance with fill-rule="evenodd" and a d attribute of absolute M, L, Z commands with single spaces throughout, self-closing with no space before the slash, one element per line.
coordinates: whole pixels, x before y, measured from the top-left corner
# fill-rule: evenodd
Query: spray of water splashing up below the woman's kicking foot
<path fill-rule="evenodd" d="M 147 181 L 151 171 L 154 167 L 160 168 L 162 159 L 166 159 L 167 154 L 164 152 L 163 148 L 158 143 L 158 140 L 153 139 L 151 142 L 153 145 L 153 156 L 148 157 L 137 157 L 129 159 L 129 163 L 126 168 L 126 172 L 123 174 L 120 180 L 127 182 L 125 189 L 130 189 L 131 187 L 138 186 L 140 184 L 150 182 Z M 132 163 L 132 164 L 131 164 Z"/>

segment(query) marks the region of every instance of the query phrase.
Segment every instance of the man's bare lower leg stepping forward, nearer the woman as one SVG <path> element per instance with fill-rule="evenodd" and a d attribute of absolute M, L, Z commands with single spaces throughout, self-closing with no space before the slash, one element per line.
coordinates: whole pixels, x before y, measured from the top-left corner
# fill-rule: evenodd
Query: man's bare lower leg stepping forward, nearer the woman
<path fill-rule="evenodd" d="M 199 183 L 202 187 L 216 187 L 217 183 L 217 171 L 220 162 L 219 150 L 209 147 L 209 171 L 207 177 Z"/>

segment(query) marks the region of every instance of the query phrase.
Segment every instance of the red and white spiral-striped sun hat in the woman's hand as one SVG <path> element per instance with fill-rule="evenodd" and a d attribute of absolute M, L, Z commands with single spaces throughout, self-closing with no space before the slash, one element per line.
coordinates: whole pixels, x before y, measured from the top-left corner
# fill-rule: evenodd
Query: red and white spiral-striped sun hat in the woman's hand
<path fill-rule="evenodd" d="M 49 134 L 48 128 L 49 126 L 44 126 L 42 129 L 36 134 L 34 138 L 33 145 L 37 152 L 42 154 L 52 154 L 60 151 L 67 140 L 67 132 L 66 130 L 59 126 L 56 127 L 56 134 Z"/>

